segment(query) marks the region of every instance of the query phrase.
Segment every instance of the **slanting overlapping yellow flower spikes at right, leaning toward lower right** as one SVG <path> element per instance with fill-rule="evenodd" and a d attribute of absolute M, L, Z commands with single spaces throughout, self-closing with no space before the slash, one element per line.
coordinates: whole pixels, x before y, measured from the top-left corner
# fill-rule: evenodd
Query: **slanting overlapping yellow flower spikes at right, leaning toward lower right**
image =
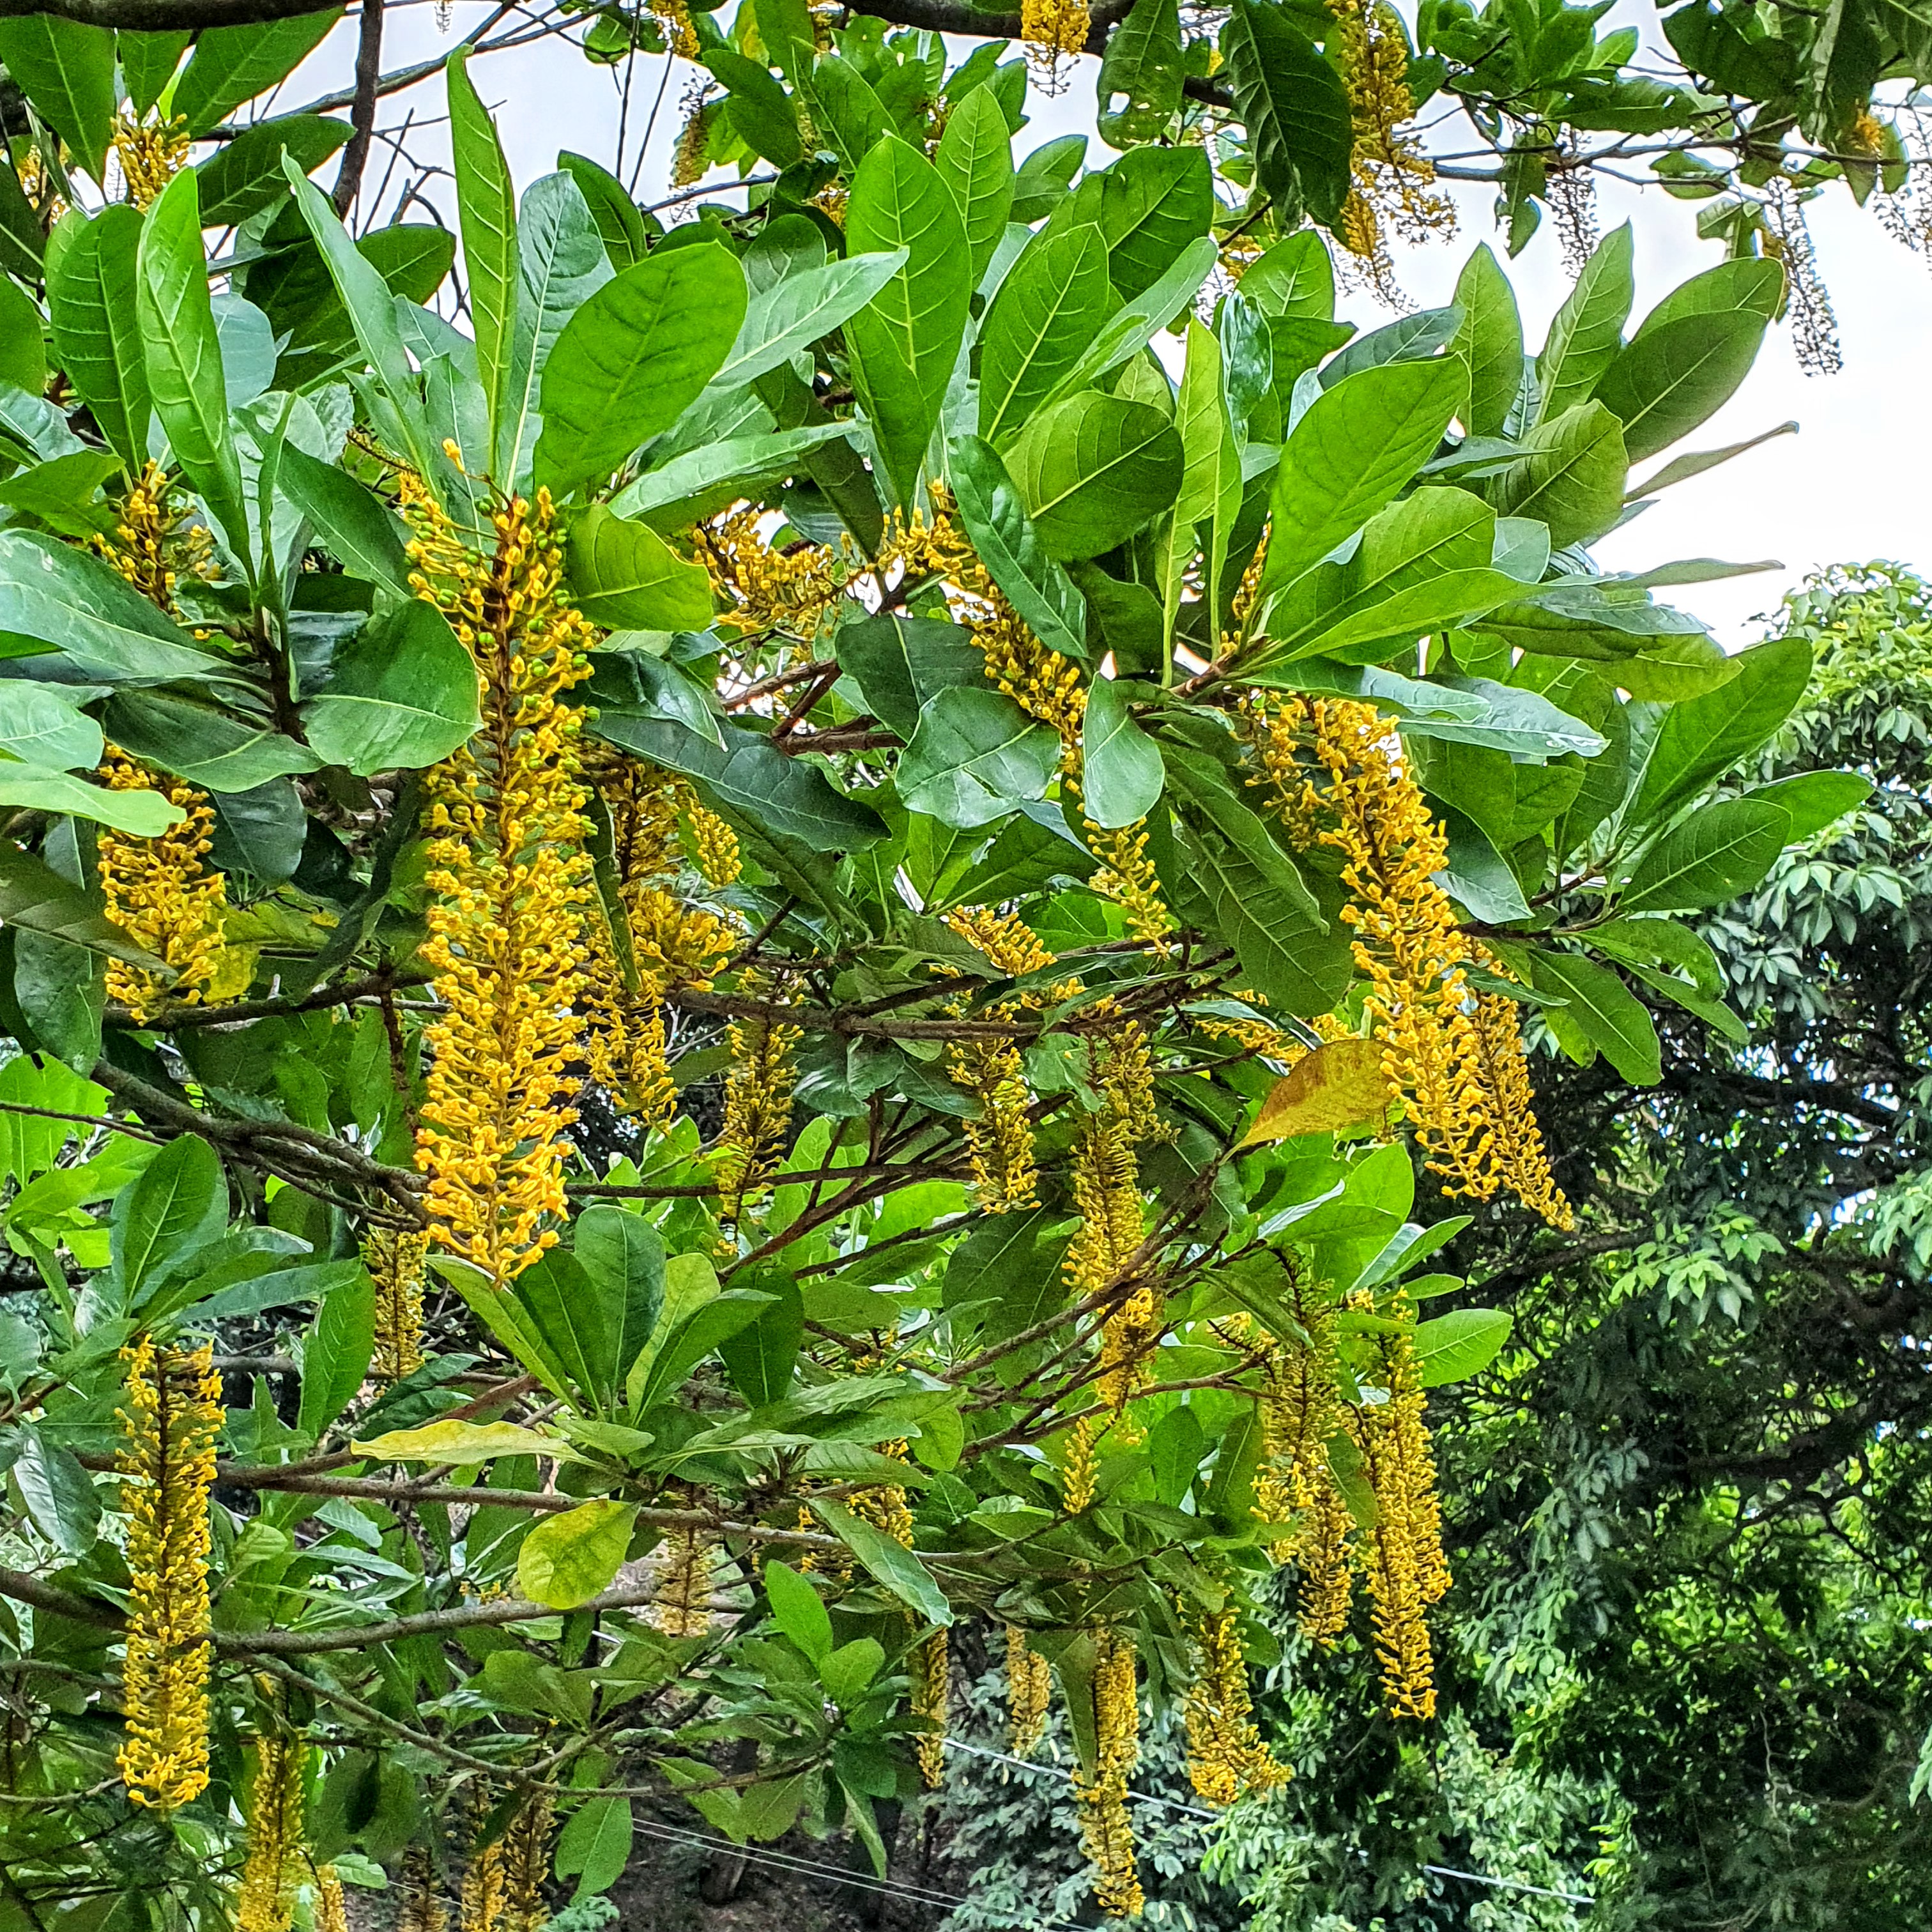
<path fill-rule="evenodd" d="M 1515 1003 L 1484 1005 L 1468 985 L 1476 952 L 1435 883 L 1449 840 L 1393 721 L 1350 699 L 1287 697 L 1254 699 L 1248 724 L 1291 835 L 1343 854 L 1364 1012 L 1430 1171 L 1451 1194 L 1486 1202 L 1509 1188 L 1553 1227 L 1571 1227 L 1528 1111 Z"/>

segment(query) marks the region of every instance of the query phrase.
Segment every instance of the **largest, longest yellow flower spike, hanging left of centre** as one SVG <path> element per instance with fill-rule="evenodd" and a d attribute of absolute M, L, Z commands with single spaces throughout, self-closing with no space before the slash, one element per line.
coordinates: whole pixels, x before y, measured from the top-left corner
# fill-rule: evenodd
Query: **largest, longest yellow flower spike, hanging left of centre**
<path fill-rule="evenodd" d="M 477 553 L 417 493 L 406 508 L 412 583 L 450 618 L 477 667 L 481 730 L 435 767 L 429 945 L 437 997 L 417 1167 L 435 1238 L 502 1285 L 564 1213 L 564 1132 L 582 1055 L 591 864 L 578 782 L 591 628 L 566 603 L 547 491 L 493 516 Z"/>

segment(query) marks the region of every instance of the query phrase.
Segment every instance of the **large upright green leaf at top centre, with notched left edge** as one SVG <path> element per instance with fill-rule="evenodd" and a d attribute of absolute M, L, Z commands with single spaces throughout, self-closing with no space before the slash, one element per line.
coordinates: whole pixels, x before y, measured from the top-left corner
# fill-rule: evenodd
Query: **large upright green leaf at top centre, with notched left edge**
<path fill-rule="evenodd" d="M 852 178 L 846 251 L 895 249 L 906 261 L 846 323 L 846 354 L 885 473 L 906 506 L 966 334 L 972 269 L 952 189 L 916 147 L 887 135 Z"/>

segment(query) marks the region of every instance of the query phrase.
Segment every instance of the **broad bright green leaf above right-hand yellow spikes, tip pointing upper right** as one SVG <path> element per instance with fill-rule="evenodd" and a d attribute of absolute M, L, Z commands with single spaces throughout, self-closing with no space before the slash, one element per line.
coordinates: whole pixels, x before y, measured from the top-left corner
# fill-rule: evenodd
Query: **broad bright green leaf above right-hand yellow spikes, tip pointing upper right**
<path fill-rule="evenodd" d="M 1262 601 L 1393 502 L 1466 396 L 1461 357 L 1383 363 L 1323 390 L 1281 450 Z"/>

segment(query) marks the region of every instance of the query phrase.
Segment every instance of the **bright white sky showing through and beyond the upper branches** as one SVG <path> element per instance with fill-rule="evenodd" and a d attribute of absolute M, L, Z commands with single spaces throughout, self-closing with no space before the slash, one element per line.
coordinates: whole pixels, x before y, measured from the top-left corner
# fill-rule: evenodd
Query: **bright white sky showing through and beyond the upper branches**
<path fill-rule="evenodd" d="M 444 37 L 437 33 L 435 6 L 427 0 L 400 6 L 390 0 L 383 66 L 398 68 L 446 50 L 456 35 L 471 31 L 489 12 L 475 0 L 464 0 L 452 8 L 454 25 Z M 1638 23 L 1654 17 L 1636 6 L 1619 12 Z M 274 106 L 286 112 L 298 100 L 348 85 L 354 46 L 355 23 L 348 19 Z M 663 68 L 663 60 L 636 64 L 626 178 L 636 164 L 639 131 L 651 118 Z M 1016 153 L 1072 129 L 1092 133 L 1095 70 L 1095 60 L 1082 60 L 1080 73 L 1057 100 L 1043 100 L 1037 91 L 1030 95 L 1028 112 L 1034 122 L 1020 133 Z M 570 44 L 547 41 L 483 62 L 473 71 L 483 99 L 497 108 L 504 149 L 520 185 L 554 168 L 560 147 L 589 155 L 605 166 L 616 162 L 622 70 L 593 68 Z M 692 71 L 682 62 L 674 64 L 665 89 L 638 176 L 638 199 L 643 203 L 668 193 L 670 147 L 680 124 L 678 95 Z M 400 126 L 412 108 L 412 151 L 423 158 L 446 158 L 442 129 L 427 126 L 442 116 L 440 79 L 390 97 L 381 126 Z M 1455 147 L 1474 145 L 1453 128 L 1447 135 Z M 1097 141 L 1090 149 L 1095 164 L 1103 164 L 1107 155 Z M 386 166 L 388 155 L 379 145 L 369 164 L 371 189 L 383 180 Z M 390 201 L 404 178 L 406 170 L 398 168 Z M 330 168 L 321 170 L 321 180 L 330 180 Z M 1493 189 L 1455 184 L 1453 193 L 1461 232 L 1447 243 L 1397 253 L 1397 276 L 1418 305 L 1451 298 L 1457 270 L 1478 242 L 1490 242 L 1497 255 L 1503 253 L 1492 222 Z M 446 193 L 437 199 L 448 207 Z M 1698 207 L 1694 201 L 1673 201 L 1662 189 L 1604 184 L 1602 226 L 1609 228 L 1625 216 L 1636 220 L 1638 315 L 1689 274 L 1723 259 L 1718 243 L 1696 236 Z M 1696 611 L 1731 647 L 1754 638 L 1758 612 L 1774 609 L 1779 595 L 1810 570 L 1878 556 L 1932 566 L 1932 263 L 1891 242 L 1870 211 L 1853 205 L 1841 184 L 1833 184 L 1806 213 L 1818 265 L 1837 313 L 1843 373 L 1806 377 L 1791 352 L 1789 328 L 1774 327 L 1743 388 L 1687 446 L 1743 442 L 1785 419 L 1797 419 L 1799 435 L 1779 437 L 1677 485 L 1658 498 L 1656 508 L 1596 551 L 1609 570 L 1648 568 L 1679 556 L 1721 556 L 1735 562 L 1777 558 L 1781 570 L 1774 574 L 1669 593 Z M 1569 288 L 1561 249 L 1548 222 L 1509 265 L 1509 274 L 1534 346 Z M 1345 298 L 1343 313 L 1364 328 L 1389 319 L 1368 296 Z M 1640 473 L 1648 468 L 1656 466 L 1640 466 Z"/>

